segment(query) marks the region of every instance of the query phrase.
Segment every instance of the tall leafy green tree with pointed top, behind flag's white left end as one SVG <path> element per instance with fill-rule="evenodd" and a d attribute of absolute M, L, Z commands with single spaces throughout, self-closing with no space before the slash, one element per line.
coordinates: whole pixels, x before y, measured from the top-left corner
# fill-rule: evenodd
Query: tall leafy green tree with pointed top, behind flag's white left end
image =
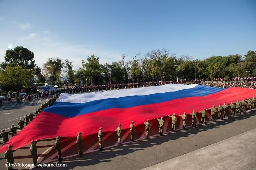
<path fill-rule="evenodd" d="M 82 60 L 82 67 L 85 69 L 87 78 L 89 77 L 89 81 L 94 85 L 96 80 L 101 76 L 102 65 L 99 62 L 99 57 L 95 55 L 88 56 L 86 63 Z"/>

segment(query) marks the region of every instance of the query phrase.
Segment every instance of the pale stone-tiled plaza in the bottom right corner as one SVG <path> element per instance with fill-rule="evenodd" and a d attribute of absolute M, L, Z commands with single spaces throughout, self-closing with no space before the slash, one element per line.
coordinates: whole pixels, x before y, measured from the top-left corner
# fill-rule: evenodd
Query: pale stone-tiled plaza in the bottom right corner
<path fill-rule="evenodd" d="M 256 169 L 256 128 L 143 170 Z"/>

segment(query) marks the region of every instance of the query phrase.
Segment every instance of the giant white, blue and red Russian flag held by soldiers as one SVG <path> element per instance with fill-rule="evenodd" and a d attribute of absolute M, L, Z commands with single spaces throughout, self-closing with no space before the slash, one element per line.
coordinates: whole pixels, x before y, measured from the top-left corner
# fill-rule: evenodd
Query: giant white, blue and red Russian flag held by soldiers
<path fill-rule="evenodd" d="M 147 119 L 183 112 L 191 113 L 212 105 L 231 103 L 256 96 L 256 90 L 238 87 L 215 88 L 203 85 L 166 84 L 106 92 L 70 95 L 60 94 L 51 107 L 45 108 L 32 122 L 0 147 L 5 152 L 9 144 L 13 149 L 30 144 L 31 140 L 76 137 L 104 131 L 114 131 L 118 123 L 122 129 L 130 128 Z"/>

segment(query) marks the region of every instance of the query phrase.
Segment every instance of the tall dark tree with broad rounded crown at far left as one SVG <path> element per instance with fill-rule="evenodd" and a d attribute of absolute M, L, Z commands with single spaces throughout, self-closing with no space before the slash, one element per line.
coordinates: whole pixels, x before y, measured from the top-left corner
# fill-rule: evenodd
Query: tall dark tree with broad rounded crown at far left
<path fill-rule="evenodd" d="M 0 66 L 4 69 L 6 66 L 21 66 L 24 69 L 35 70 L 34 53 L 22 46 L 8 49 L 5 51 L 4 60 Z"/>

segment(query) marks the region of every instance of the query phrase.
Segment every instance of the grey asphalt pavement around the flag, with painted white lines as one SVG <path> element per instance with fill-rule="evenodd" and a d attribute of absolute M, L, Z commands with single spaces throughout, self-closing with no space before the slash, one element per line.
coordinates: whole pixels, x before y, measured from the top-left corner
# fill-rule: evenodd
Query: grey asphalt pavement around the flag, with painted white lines
<path fill-rule="evenodd" d="M 22 119 L 19 117 L 34 111 L 34 109 L 38 108 L 40 103 L 44 102 L 38 101 L 39 100 L 34 101 L 31 105 L 29 105 L 30 103 L 28 102 L 23 106 L 17 104 L 12 108 L 10 108 L 10 106 L 0 108 L 0 127 L 7 129 L 10 128 L 11 124 L 17 124 L 18 119 Z M 180 130 L 178 133 L 172 132 L 162 137 L 156 136 L 150 139 L 139 140 L 136 143 L 113 146 L 105 149 L 103 152 L 95 151 L 85 153 L 82 158 L 71 156 L 66 159 L 65 155 L 69 153 L 64 152 L 63 162 L 57 162 L 57 164 L 67 164 L 66 168 L 51 167 L 40 169 L 142 169 L 256 128 L 255 122 L 256 111 L 249 111 L 246 114 L 236 115 L 235 117 L 232 116 L 230 119 L 224 119 L 223 121 L 217 121 L 217 123 L 211 122 L 208 125 L 199 125 L 198 128 L 189 127 L 187 130 Z M 55 139 L 45 139 L 38 142 L 37 152 L 38 156 L 41 157 L 39 162 L 41 162 L 42 159 L 47 160 L 52 153 L 56 154 L 54 149 L 49 150 L 53 146 L 54 140 Z M 72 154 L 74 154 L 74 152 L 77 151 L 76 144 L 70 143 L 75 141 L 75 139 L 66 140 L 66 146 L 69 146 Z M 71 142 L 68 142 L 68 140 Z M 89 140 L 85 140 L 84 142 L 88 144 Z M 32 163 L 29 147 L 30 145 L 27 145 L 14 152 L 14 162 Z M 70 155 L 72 154 L 70 153 Z M 0 154 L 0 158 L 3 158 L 3 153 Z M 1 165 L 4 165 L 4 162 L 4 159 L 0 159 Z M 56 163 L 56 161 L 50 161 L 50 163 Z M 16 168 L 29 169 L 30 167 Z M 6 168 L 1 166 L 0 169 Z"/>

